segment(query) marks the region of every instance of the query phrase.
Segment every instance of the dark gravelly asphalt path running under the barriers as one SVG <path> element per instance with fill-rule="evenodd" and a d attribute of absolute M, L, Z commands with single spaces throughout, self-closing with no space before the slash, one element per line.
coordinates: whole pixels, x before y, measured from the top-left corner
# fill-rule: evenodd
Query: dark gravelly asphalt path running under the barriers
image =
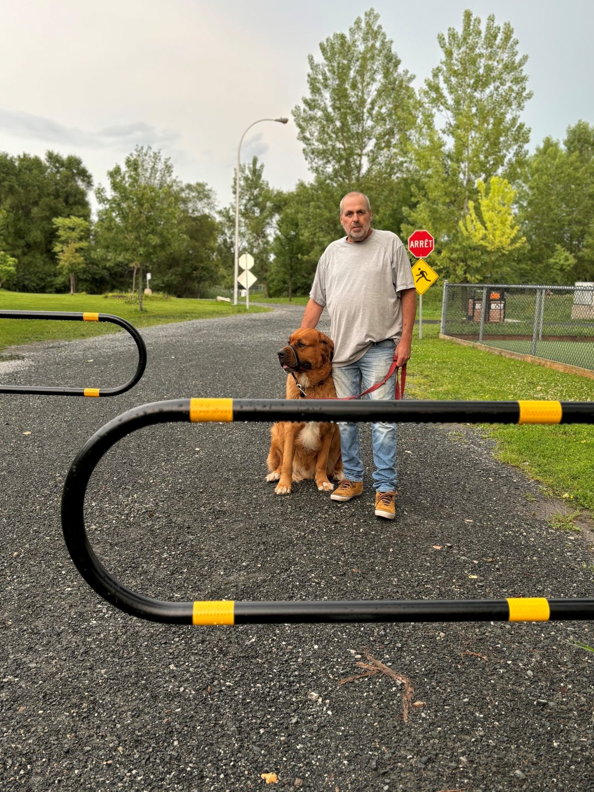
<path fill-rule="evenodd" d="M 302 310 L 145 329 L 146 374 L 115 398 L 0 394 L 2 790 L 249 790 L 272 773 L 270 789 L 320 792 L 594 789 L 594 654 L 574 645 L 594 645 L 591 624 L 159 625 L 78 576 L 59 505 L 89 436 L 166 398 L 282 398 L 276 350 Z M 113 386 L 135 368 L 124 333 L 10 352 L 6 383 Z M 275 495 L 268 425 L 139 430 L 93 474 L 93 547 L 169 600 L 592 592 L 588 535 L 550 527 L 558 505 L 477 429 L 399 428 L 393 523 L 374 516 L 362 431 L 364 495 L 341 504 L 313 482 Z"/>

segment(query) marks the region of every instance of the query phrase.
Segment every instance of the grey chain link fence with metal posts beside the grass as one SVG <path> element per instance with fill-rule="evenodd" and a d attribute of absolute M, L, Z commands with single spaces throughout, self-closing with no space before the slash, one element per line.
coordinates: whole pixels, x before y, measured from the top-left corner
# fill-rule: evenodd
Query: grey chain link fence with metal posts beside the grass
<path fill-rule="evenodd" d="M 441 333 L 594 371 L 594 283 L 444 284 Z"/>

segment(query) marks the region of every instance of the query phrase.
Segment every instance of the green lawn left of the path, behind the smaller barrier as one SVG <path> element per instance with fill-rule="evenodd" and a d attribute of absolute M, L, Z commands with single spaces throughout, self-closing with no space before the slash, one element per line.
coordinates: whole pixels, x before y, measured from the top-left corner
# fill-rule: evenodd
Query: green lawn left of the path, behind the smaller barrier
<path fill-rule="evenodd" d="M 216 300 L 148 299 L 142 312 L 137 303 L 101 295 L 36 295 L 0 289 L 0 310 L 68 310 L 116 314 L 135 327 L 185 322 L 188 319 L 207 319 L 231 314 L 246 314 L 246 307 Z M 254 314 L 268 310 L 249 307 Z M 118 333 L 115 325 L 101 322 L 59 322 L 40 319 L 0 319 L 0 350 L 7 346 L 29 344 L 32 341 L 73 340 Z"/>

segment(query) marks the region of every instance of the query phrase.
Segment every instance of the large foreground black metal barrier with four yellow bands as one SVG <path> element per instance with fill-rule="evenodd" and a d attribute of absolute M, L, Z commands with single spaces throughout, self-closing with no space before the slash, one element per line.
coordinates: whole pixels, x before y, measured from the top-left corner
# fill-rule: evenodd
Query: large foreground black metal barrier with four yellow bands
<path fill-rule="evenodd" d="M 101 457 L 136 429 L 173 421 L 389 421 L 594 423 L 594 402 L 308 402 L 280 399 L 194 398 L 154 402 L 110 421 L 87 441 L 68 471 L 62 494 L 62 527 L 68 552 L 87 583 L 127 613 L 154 622 L 220 625 L 330 622 L 539 622 L 594 619 L 594 599 L 547 600 L 322 600 L 234 602 L 154 600 L 122 585 L 105 569 L 85 530 L 86 487 Z"/>

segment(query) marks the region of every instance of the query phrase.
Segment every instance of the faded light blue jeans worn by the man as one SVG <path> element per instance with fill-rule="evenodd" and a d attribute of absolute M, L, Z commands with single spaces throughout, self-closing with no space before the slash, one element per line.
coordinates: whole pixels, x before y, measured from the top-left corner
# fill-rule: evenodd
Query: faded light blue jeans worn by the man
<path fill-rule="evenodd" d="M 394 341 L 379 341 L 371 345 L 364 356 L 348 366 L 334 367 L 332 376 L 338 398 L 356 396 L 367 388 L 380 383 L 390 370 L 394 357 Z M 394 398 L 395 373 L 373 393 L 363 398 Z M 345 478 L 352 482 L 363 481 L 363 462 L 361 461 L 361 437 L 359 424 L 339 423 L 341 432 L 342 462 Z M 398 488 L 396 470 L 396 425 L 371 424 L 373 461 L 375 471 L 373 482 L 377 492 L 391 492 Z"/>

